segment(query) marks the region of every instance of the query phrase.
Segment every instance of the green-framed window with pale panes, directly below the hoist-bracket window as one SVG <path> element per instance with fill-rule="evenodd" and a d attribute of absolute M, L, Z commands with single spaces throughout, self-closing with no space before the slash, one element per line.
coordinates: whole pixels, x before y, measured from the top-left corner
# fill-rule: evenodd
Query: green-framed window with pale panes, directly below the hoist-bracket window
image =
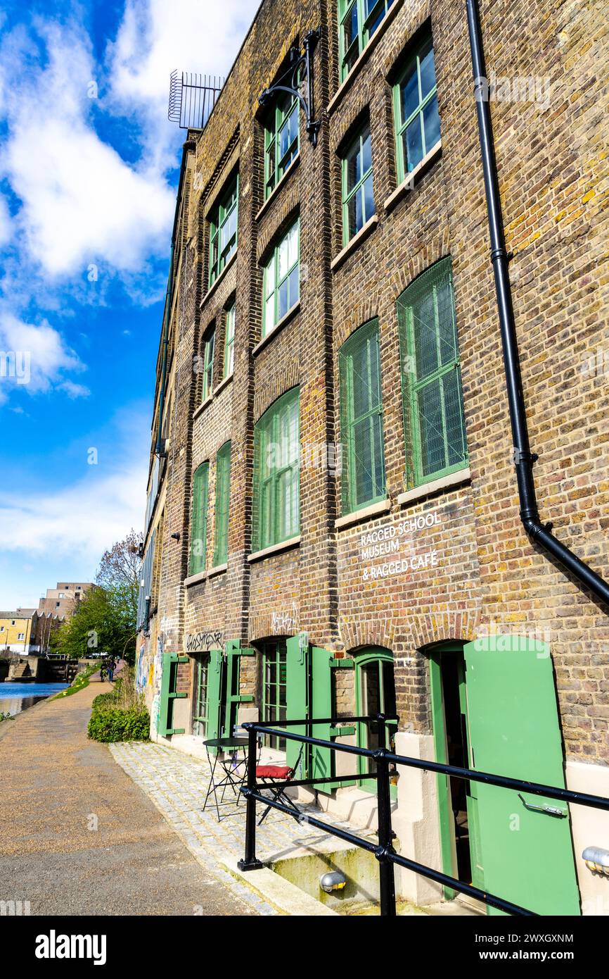
<path fill-rule="evenodd" d="M 264 267 L 262 336 L 267 337 L 300 299 L 300 218 L 288 228 Z"/>

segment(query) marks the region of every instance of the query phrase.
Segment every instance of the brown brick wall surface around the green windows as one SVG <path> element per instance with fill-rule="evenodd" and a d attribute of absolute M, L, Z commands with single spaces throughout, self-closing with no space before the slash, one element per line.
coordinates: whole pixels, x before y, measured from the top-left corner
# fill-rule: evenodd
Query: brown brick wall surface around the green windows
<path fill-rule="evenodd" d="M 553 521 L 556 535 L 603 574 L 609 523 L 609 354 L 604 373 L 598 365 L 602 351 L 609 350 L 607 271 L 601 260 L 607 185 L 601 35 L 606 28 L 591 6 L 571 0 L 551 0 L 543 9 L 525 0 L 481 7 L 488 69 L 510 79 L 534 75 L 549 84 L 547 99 L 492 105 L 500 194 L 507 247 L 514 252 L 510 275 L 531 443 L 540 453 L 535 470 L 540 509 L 544 519 Z M 442 154 L 412 191 L 390 204 L 397 180 L 391 84 L 416 31 L 429 19 Z M 301 115 L 299 163 L 263 208 L 257 96 L 277 76 L 290 43 L 316 26 L 322 27 L 315 54 L 315 99 L 323 119 L 319 144 L 314 149 L 309 143 Z M 395 0 L 369 56 L 338 97 L 336 35 L 333 3 L 266 0 L 189 157 L 172 313 L 172 417 L 151 648 L 157 635 L 165 649 L 181 652 L 185 635 L 198 631 L 221 631 L 225 640 L 255 644 L 299 630 L 338 655 L 364 645 L 384 646 L 395 656 L 401 725 L 426 731 L 430 718 L 422 647 L 444 639 L 468 640 L 481 629 L 534 633 L 551 647 L 567 754 L 606 763 L 606 610 L 530 542 L 518 517 L 463 4 Z M 540 91 L 544 95 L 545 89 Z M 339 153 L 367 116 L 378 221 L 359 247 L 332 268 L 342 248 Z M 239 248 L 208 291 L 208 215 L 236 165 Z M 300 306 L 258 348 L 261 261 L 296 213 Z M 448 255 L 455 278 L 471 476 L 460 486 L 400 505 L 398 496 L 407 487 L 396 303 L 419 272 Z M 235 373 L 201 408 L 194 358 L 204 330 L 214 322 L 217 387 L 224 310 L 233 297 Z M 339 478 L 319 465 L 303 466 L 300 543 L 249 562 L 253 425 L 278 396 L 298 385 L 301 443 L 339 443 L 337 352 L 372 316 L 379 323 L 390 510 L 336 530 Z M 590 358 L 596 358 L 592 369 Z M 229 438 L 228 568 L 185 588 L 193 473 L 209 460 L 209 570 L 215 456 Z M 417 517 L 432 523 L 423 519 L 412 527 Z M 434 551 L 437 563 L 366 578 L 366 568 L 378 562 L 363 559 L 362 537 L 380 527 L 396 534 L 402 530 L 410 556 Z M 179 541 L 169 536 L 176 532 Z M 336 674 L 336 702 L 348 713 L 355 707 L 353 674 Z M 188 685 L 190 668 L 183 676 Z M 241 689 L 257 694 L 251 657 L 243 658 Z"/>

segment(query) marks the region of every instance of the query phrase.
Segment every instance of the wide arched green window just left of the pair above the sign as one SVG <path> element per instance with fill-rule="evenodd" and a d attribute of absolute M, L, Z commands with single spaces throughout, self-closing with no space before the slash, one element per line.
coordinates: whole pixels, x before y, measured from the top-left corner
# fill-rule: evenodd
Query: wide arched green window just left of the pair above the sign
<path fill-rule="evenodd" d="M 293 388 L 254 427 L 253 551 L 300 533 L 299 406 Z"/>

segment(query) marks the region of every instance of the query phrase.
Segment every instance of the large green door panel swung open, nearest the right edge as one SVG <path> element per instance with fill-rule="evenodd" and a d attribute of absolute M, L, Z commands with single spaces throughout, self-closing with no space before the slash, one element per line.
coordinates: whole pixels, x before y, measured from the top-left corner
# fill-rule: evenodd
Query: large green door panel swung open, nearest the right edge
<path fill-rule="evenodd" d="M 500 635 L 463 652 L 472 767 L 564 787 L 549 647 Z M 538 914 L 580 914 L 567 805 L 526 792 L 523 803 L 515 791 L 482 782 L 476 792 L 485 890 Z"/>

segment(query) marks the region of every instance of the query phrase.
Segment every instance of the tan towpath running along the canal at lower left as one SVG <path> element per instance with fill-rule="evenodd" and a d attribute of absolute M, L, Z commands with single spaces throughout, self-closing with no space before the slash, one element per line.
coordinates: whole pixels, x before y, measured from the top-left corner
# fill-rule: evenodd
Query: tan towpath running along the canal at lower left
<path fill-rule="evenodd" d="M 276 913 L 197 859 L 109 748 L 88 740 L 93 698 L 109 689 L 90 683 L 2 724 L 0 900 L 28 901 L 32 914 Z"/>

